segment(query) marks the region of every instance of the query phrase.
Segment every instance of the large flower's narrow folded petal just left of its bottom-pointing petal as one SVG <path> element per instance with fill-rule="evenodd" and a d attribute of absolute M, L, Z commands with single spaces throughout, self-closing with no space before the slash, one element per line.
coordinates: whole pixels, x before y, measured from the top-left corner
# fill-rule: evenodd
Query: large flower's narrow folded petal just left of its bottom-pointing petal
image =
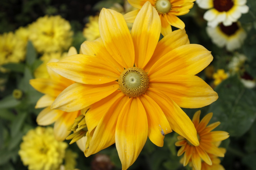
<path fill-rule="evenodd" d="M 128 99 L 129 97 L 125 95 L 119 95 L 119 98 L 115 103 L 109 105 L 110 109 L 101 117 L 101 120 L 93 133 L 89 149 L 84 152 L 85 156 L 97 153 L 115 143 L 116 122 Z"/>

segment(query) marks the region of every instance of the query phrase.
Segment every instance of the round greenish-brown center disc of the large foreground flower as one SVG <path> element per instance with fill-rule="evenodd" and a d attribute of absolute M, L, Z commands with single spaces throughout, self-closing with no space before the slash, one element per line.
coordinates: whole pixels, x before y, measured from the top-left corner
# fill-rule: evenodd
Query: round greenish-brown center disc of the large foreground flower
<path fill-rule="evenodd" d="M 121 73 L 118 83 L 126 96 L 138 97 L 147 91 L 149 79 L 144 70 L 130 67 Z"/>

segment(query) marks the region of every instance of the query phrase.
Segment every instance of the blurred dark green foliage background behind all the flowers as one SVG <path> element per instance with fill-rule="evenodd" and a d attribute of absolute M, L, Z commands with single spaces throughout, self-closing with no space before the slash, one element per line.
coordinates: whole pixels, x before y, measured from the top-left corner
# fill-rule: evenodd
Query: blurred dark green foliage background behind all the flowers
<path fill-rule="evenodd" d="M 79 51 L 79 46 L 85 40 L 82 34 L 84 25 L 89 21 L 89 16 L 99 13 L 102 7 L 110 8 L 114 3 L 123 3 L 122 0 L 1 0 L 0 1 L 0 33 L 15 31 L 20 26 L 34 22 L 45 15 L 61 15 L 68 20 L 74 31 L 72 46 Z M 249 12 L 243 14 L 239 21 L 247 32 L 243 46 L 234 51 L 227 51 L 212 43 L 206 33 L 207 22 L 202 18 L 205 10 L 197 4 L 184 16 L 180 16 L 186 25 L 190 43 L 201 44 L 212 51 L 214 60 L 211 63 L 214 71 L 229 70 L 228 63 L 236 53 L 247 57 L 243 69 L 256 79 L 256 1 L 247 0 Z M 41 109 L 35 109 L 37 100 L 42 96 L 30 86 L 29 80 L 33 79 L 34 70 L 42 63 L 39 60 L 33 44 L 27 44 L 26 59 L 21 63 L 9 63 L 3 67 L 9 69 L 7 73 L 0 73 L 0 78 L 5 79 L 5 89 L 0 93 L 0 169 L 27 169 L 18 155 L 19 145 L 29 129 L 37 126 L 36 117 Z M 221 146 L 227 148 L 224 158 L 221 158 L 225 169 L 256 169 L 256 90 L 245 87 L 239 75 L 230 75 L 215 87 L 213 79 L 202 71 L 198 74 L 208 84 L 212 85 L 218 93 L 219 99 L 210 106 L 200 108 L 203 117 L 213 112 L 210 123 L 220 121 L 215 130 L 224 130 L 230 138 L 223 141 Z M 22 97 L 15 98 L 14 90 L 22 91 Z M 184 109 L 192 119 L 193 114 L 199 109 Z M 179 163 L 178 148 L 175 132 L 165 136 L 164 146 L 159 148 L 149 140 L 146 142 L 140 156 L 129 169 L 149 170 L 174 170 L 190 169 Z M 69 142 L 69 141 L 68 141 Z M 79 169 L 121 169 L 121 163 L 115 146 L 111 146 L 86 158 L 76 144 L 69 145 L 72 151 L 78 153 L 77 168 Z M 106 162 L 97 162 L 99 156 L 109 156 Z"/>

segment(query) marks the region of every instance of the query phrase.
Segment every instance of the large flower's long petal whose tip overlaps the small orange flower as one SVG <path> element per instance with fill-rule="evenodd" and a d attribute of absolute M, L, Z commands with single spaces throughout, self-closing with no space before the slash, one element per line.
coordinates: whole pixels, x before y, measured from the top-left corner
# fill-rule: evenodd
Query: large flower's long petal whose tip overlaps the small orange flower
<path fill-rule="evenodd" d="M 172 99 L 154 88 L 148 88 L 145 94 L 151 97 L 160 106 L 172 130 L 185 137 L 193 145 L 199 145 L 194 124 Z"/>

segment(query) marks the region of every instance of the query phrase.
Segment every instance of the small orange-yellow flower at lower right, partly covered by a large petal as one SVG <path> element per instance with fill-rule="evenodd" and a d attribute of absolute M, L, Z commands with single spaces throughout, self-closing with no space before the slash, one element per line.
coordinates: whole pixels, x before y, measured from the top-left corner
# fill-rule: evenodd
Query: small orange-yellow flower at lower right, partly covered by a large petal
<path fill-rule="evenodd" d="M 220 148 L 216 146 L 216 142 L 225 140 L 229 137 L 227 132 L 224 131 L 213 131 L 220 122 L 215 122 L 207 126 L 209 123 L 212 113 L 208 113 L 201 121 L 199 121 L 201 111 L 197 111 L 192 119 L 197 130 L 197 137 L 199 140 L 199 146 L 192 145 L 188 140 L 182 136 L 178 136 L 178 141 L 175 143 L 176 146 L 181 146 L 178 151 L 178 156 L 184 153 L 183 165 L 186 166 L 190 160 L 192 160 L 193 167 L 196 170 L 201 169 L 201 159 L 208 165 L 212 165 L 212 160 L 209 154 L 224 157 L 224 153 Z"/>

